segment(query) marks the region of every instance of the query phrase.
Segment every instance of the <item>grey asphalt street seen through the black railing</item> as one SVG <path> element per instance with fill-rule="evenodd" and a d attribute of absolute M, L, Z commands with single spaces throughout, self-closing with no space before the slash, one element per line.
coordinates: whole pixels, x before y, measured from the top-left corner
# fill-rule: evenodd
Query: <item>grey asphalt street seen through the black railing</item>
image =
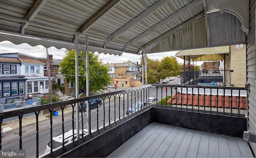
<path fill-rule="evenodd" d="M 175 85 L 179 83 L 179 78 L 173 81 L 166 83 L 166 85 Z M 114 89 L 113 89 L 114 90 Z M 120 89 L 116 89 L 120 90 Z M 157 94 L 156 94 L 157 92 Z M 170 89 L 164 90 L 164 88 L 151 88 L 149 91 L 151 97 L 158 96 L 158 99 L 163 99 L 166 95 L 171 95 Z M 172 94 L 175 93 L 174 88 L 172 89 Z M 161 94 L 163 94 L 161 96 Z M 148 97 L 149 97 L 148 96 Z M 131 104 L 140 100 L 141 94 L 138 93 L 130 93 L 126 94 L 124 97 L 116 98 L 114 97 L 109 100 L 106 98 L 105 104 L 101 105 L 100 108 L 91 110 L 91 128 L 92 130 L 96 130 L 97 127 L 100 128 L 105 125 L 111 123 L 112 121 L 122 118 L 126 115 L 126 110 L 130 107 Z M 144 98 L 146 99 L 146 98 Z M 125 100 L 125 103 L 124 101 Z M 128 100 L 128 101 L 127 101 Z M 103 100 L 102 100 L 103 101 Z M 120 102 L 120 104 L 119 104 Z M 120 106 L 119 106 L 120 105 Z M 105 116 L 105 117 L 104 117 Z M 110 117 L 108 117 L 110 116 Z M 75 117 L 76 118 L 76 117 Z M 52 124 L 52 135 L 57 136 L 62 133 L 62 117 L 56 116 L 53 118 Z M 76 128 L 76 120 L 74 120 L 74 127 Z M 68 113 L 64 115 L 64 129 L 65 131 L 72 129 L 72 113 Z M 44 154 L 44 150 L 46 148 L 46 144 L 50 141 L 50 119 L 39 122 L 39 155 Z M 19 149 L 19 129 L 13 130 L 10 132 L 6 132 L 2 134 L 2 149 Z M 22 149 L 26 149 L 26 157 L 36 157 L 36 124 L 32 124 L 30 126 L 26 126 L 22 128 Z"/>

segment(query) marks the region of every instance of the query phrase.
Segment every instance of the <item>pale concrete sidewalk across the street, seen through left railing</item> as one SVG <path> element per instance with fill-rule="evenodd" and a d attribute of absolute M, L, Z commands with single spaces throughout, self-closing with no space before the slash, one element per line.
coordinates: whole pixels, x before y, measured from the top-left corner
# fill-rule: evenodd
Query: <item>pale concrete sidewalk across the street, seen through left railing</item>
<path fill-rule="evenodd" d="M 66 100 L 74 99 L 73 97 L 66 96 L 66 95 L 64 95 L 64 98 Z M 61 110 L 57 110 L 57 112 L 59 114 L 58 116 L 62 115 Z M 64 109 L 64 114 L 67 114 L 67 113 L 70 113 L 70 112 L 72 112 L 72 107 L 67 106 Z M 50 115 L 50 113 L 39 114 L 38 122 L 50 119 L 49 115 Z M 53 117 L 58 117 L 58 116 L 53 115 Z M 28 125 L 31 125 L 31 124 L 34 124 L 34 123 L 36 123 L 36 116 L 35 115 L 22 118 L 22 127 L 28 126 Z M 4 122 L 4 123 L 2 123 L 2 128 L 3 128 L 4 132 L 8 132 L 8 131 L 11 131 L 11 130 L 16 130 L 16 129 L 20 128 L 19 120 L 17 119 L 17 120 L 12 120 L 12 121 L 9 121 L 9 122 Z"/>

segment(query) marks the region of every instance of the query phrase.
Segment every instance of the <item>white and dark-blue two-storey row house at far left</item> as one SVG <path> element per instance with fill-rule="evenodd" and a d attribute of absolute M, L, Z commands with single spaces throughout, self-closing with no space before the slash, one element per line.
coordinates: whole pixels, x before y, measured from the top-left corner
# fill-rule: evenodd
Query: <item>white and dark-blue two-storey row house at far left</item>
<path fill-rule="evenodd" d="M 12 102 L 19 97 L 40 95 L 40 85 L 44 93 L 49 92 L 48 77 L 44 76 L 44 62 L 18 52 L 0 54 L 0 59 L 0 103 Z"/>

